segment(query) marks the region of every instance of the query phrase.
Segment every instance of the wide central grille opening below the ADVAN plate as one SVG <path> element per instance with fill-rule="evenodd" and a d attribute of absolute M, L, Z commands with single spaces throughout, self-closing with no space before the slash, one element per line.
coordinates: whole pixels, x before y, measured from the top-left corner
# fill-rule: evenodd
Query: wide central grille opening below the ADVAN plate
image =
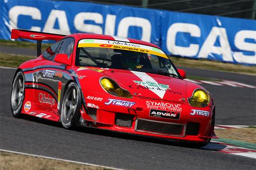
<path fill-rule="evenodd" d="M 182 136 L 184 126 L 138 119 L 136 131 Z"/>

